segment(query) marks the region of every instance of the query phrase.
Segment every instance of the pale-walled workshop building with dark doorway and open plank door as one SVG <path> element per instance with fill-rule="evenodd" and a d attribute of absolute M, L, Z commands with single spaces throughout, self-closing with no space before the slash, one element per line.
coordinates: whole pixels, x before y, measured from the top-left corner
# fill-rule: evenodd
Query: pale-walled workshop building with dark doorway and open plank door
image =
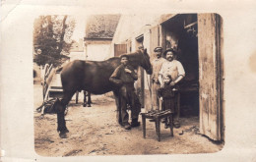
<path fill-rule="evenodd" d="M 137 20 L 137 21 L 136 21 Z M 141 24 L 138 24 L 141 20 Z M 144 20 L 144 21 L 142 21 Z M 127 25 L 131 24 L 131 27 Z M 137 27 L 134 27 L 136 25 Z M 121 31 L 125 28 L 125 33 Z M 122 16 L 111 43 L 110 56 L 135 51 L 144 45 L 153 58 L 154 48 L 174 48 L 186 71 L 180 82 L 181 110 L 199 116 L 200 133 L 224 140 L 223 20 L 217 14 Z M 151 108 L 150 76 L 139 70 L 136 82 L 142 106 Z"/>

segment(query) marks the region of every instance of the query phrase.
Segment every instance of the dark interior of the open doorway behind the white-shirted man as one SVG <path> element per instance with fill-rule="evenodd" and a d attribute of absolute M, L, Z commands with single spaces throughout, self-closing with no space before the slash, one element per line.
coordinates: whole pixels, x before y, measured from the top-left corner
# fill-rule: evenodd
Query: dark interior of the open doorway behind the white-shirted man
<path fill-rule="evenodd" d="M 165 49 L 174 48 L 186 77 L 180 81 L 180 117 L 199 116 L 197 14 L 176 15 L 161 24 Z"/>

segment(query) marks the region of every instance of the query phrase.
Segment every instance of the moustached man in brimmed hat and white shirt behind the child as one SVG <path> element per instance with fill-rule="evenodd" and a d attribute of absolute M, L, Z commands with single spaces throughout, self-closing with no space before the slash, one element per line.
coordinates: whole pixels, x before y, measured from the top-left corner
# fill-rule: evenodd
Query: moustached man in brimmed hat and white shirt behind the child
<path fill-rule="evenodd" d="M 169 84 L 174 86 L 185 77 L 184 68 L 179 61 L 175 60 L 176 52 L 173 49 L 166 50 L 163 53 L 163 57 L 166 59 L 166 62 L 164 62 L 160 68 L 160 86 L 164 86 L 162 77 L 166 75 L 171 76 L 171 82 Z M 177 112 L 174 112 L 174 127 L 180 127 Z"/>

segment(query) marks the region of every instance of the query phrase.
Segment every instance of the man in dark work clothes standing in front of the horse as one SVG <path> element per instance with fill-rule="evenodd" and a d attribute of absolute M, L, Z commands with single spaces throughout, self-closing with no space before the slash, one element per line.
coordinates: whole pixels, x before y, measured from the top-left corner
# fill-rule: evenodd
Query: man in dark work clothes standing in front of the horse
<path fill-rule="evenodd" d="M 121 125 L 125 130 L 131 127 L 138 127 L 138 117 L 141 112 L 141 104 L 135 93 L 134 81 L 138 80 L 137 73 L 132 66 L 129 65 L 129 56 L 121 55 L 121 65 L 115 69 L 109 81 L 119 85 L 119 101 L 121 110 Z M 127 113 L 127 104 L 131 107 L 132 123 L 129 124 L 129 114 Z"/>

